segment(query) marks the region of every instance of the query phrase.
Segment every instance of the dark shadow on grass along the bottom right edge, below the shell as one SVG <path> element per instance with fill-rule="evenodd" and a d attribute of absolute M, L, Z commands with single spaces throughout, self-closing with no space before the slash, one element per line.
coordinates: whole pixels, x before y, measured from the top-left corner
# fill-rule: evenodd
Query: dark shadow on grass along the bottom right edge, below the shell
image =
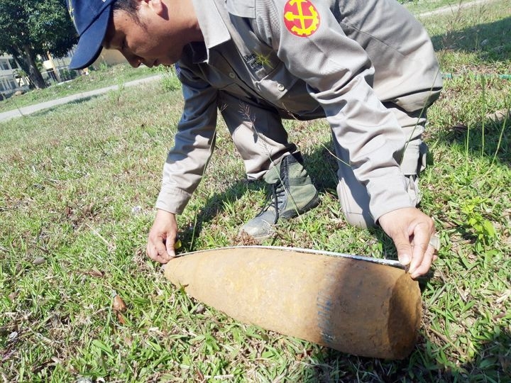
<path fill-rule="evenodd" d="M 500 326 L 485 335 L 468 362 L 446 362 L 441 348 L 419 335 L 412 354 L 404 360 L 381 360 L 321 348 L 311 355 L 304 382 L 510 382 L 511 334 Z"/>

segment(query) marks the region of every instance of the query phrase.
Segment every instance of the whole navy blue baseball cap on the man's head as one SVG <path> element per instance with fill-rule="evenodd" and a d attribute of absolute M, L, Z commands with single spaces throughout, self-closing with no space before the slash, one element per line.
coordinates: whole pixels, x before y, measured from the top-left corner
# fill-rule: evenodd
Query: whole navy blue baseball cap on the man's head
<path fill-rule="evenodd" d="M 99 57 L 114 1 L 116 0 L 67 0 L 67 9 L 79 35 L 70 69 L 88 67 Z"/>

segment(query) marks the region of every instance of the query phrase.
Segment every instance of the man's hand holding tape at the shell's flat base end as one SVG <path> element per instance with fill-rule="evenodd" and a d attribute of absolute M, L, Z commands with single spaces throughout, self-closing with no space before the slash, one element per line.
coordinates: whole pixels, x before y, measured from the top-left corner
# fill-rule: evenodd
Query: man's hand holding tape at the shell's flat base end
<path fill-rule="evenodd" d="M 436 250 L 429 244 L 435 233 L 432 218 L 410 207 L 385 213 L 378 221 L 394 241 L 397 258 L 408 266 L 410 276 L 417 278 L 426 274 L 436 260 Z"/>

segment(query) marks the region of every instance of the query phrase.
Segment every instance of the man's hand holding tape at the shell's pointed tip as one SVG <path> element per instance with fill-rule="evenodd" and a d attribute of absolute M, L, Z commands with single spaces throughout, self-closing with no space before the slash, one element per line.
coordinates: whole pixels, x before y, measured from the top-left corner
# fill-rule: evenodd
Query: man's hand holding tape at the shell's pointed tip
<path fill-rule="evenodd" d="M 177 221 L 173 213 L 158 210 L 153 227 L 149 231 L 147 255 L 151 260 L 167 263 L 175 257 Z"/>

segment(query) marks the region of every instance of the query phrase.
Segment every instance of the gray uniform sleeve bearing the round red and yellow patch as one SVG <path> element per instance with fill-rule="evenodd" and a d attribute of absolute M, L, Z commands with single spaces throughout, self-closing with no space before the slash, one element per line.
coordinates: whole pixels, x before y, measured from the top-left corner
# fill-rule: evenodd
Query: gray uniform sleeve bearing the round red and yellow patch
<path fill-rule="evenodd" d="M 335 139 L 349 152 L 356 178 L 368 189 L 370 212 L 378 220 L 389 211 L 413 206 L 396 160 L 405 136 L 372 89 L 374 69 L 368 55 L 346 36 L 324 3 L 258 0 L 255 32 L 278 52 L 287 70 L 307 83 Z M 302 26 L 307 28 L 295 28 L 296 33 L 288 29 L 285 13 L 291 10 L 287 18 L 300 14 L 289 4 L 314 4 L 315 26 L 306 21 Z"/>

